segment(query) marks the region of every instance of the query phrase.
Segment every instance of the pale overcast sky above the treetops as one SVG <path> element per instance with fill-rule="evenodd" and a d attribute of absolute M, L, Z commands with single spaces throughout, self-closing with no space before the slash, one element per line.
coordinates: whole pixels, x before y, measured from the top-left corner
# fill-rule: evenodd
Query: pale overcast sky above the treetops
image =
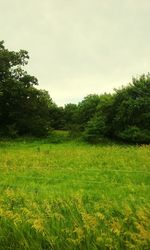
<path fill-rule="evenodd" d="M 0 40 L 63 106 L 150 71 L 150 0 L 0 0 Z"/>

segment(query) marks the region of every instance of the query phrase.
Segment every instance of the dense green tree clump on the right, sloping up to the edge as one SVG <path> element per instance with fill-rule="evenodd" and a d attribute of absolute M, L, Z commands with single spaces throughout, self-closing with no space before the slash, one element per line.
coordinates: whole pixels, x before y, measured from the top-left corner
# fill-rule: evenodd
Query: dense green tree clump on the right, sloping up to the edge
<path fill-rule="evenodd" d="M 150 75 L 133 79 L 132 84 L 113 95 L 99 97 L 99 104 L 85 126 L 85 139 L 101 137 L 133 143 L 150 142 Z"/>

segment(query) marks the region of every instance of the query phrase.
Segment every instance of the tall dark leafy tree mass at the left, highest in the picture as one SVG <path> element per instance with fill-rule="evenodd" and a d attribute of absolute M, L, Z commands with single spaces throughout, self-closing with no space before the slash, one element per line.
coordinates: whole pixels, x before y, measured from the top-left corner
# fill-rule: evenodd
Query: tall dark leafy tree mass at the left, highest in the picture
<path fill-rule="evenodd" d="M 22 69 L 28 63 L 25 50 L 9 51 L 0 42 L 0 134 L 46 135 L 52 100 L 38 90 L 34 76 Z"/>

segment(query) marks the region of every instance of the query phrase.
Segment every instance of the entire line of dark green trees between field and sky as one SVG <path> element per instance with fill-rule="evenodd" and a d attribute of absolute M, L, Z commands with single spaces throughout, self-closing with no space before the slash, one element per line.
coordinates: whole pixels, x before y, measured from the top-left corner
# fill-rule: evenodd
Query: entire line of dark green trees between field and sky
<path fill-rule="evenodd" d="M 58 107 L 23 66 L 25 50 L 9 51 L 0 42 L 0 136 L 47 136 L 52 130 L 81 134 L 88 142 L 104 138 L 150 142 L 150 74 L 133 78 L 113 94 L 88 95 Z"/>

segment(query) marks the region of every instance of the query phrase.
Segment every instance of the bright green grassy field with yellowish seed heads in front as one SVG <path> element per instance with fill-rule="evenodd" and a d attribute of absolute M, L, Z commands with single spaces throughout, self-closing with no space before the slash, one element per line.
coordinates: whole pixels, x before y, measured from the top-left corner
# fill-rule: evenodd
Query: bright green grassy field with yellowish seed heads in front
<path fill-rule="evenodd" d="M 0 249 L 150 249 L 150 146 L 1 141 Z"/>

